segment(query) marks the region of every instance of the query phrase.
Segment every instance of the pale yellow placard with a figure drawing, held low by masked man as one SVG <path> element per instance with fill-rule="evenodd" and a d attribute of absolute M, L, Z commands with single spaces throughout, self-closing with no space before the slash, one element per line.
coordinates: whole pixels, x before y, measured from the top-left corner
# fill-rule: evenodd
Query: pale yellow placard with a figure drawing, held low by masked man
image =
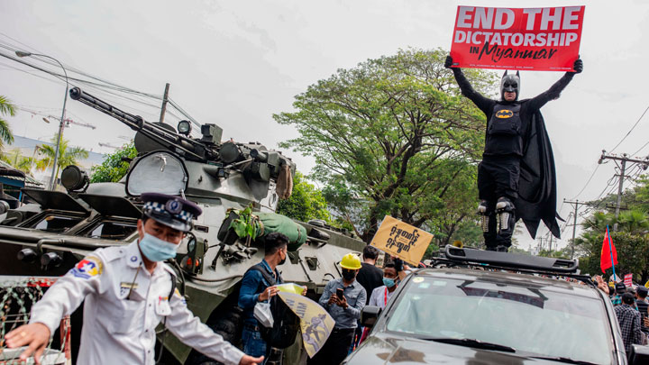
<path fill-rule="evenodd" d="M 313 358 L 334 331 L 334 318 L 322 306 L 307 297 L 288 292 L 279 292 L 278 295 L 299 317 L 306 354 Z"/>

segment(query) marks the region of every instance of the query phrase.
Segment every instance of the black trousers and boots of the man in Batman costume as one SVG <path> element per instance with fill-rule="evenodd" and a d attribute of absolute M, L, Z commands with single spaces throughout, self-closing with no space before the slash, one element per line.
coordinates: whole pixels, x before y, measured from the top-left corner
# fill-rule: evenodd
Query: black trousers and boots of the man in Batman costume
<path fill-rule="evenodd" d="M 511 236 L 516 222 L 515 212 L 511 212 L 509 227 L 498 233 L 496 203 L 499 197 L 507 197 L 514 203 L 518 197 L 520 178 L 520 157 L 483 156 L 478 166 L 478 195 L 486 200 L 489 214 L 489 232 L 484 233 L 485 244 L 489 248 L 511 246 Z"/>

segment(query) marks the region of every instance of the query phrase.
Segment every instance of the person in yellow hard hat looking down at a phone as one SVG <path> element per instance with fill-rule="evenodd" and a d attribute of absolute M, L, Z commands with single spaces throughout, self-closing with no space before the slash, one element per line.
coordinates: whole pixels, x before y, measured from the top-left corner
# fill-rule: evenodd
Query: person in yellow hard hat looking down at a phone
<path fill-rule="evenodd" d="M 341 267 L 343 278 L 330 280 L 319 300 L 320 306 L 324 306 L 334 318 L 334 331 L 324 342 L 323 348 L 308 360 L 309 365 L 337 365 L 344 360 L 352 345 L 361 309 L 367 302 L 365 289 L 356 281 L 356 275 L 361 269 L 359 257 L 353 253 L 344 255 Z"/>

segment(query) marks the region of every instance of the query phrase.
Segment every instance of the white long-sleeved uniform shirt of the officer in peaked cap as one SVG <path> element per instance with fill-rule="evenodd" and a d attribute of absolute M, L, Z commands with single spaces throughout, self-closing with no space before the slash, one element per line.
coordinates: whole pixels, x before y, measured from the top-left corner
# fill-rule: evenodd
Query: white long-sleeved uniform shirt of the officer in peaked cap
<path fill-rule="evenodd" d="M 45 324 L 54 333 L 61 317 L 85 299 L 78 364 L 154 364 L 155 328 L 165 316 L 166 327 L 181 342 L 238 364 L 242 351 L 202 324 L 178 290 L 169 298 L 171 273 L 158 262 L 150 274 L 137 242 L 96 250 L 50 287 L 32 307 L 30 323 Z"/>

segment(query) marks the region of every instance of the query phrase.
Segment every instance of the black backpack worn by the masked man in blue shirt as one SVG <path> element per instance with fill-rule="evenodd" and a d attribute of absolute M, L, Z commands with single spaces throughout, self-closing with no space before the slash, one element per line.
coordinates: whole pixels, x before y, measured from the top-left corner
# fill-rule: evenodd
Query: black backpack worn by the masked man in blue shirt
<path fill-rule="evenodd" d="M 276 284 L 275 278 L 261 267 L 261 264 L 252 266 L 249 270 L 257 270 L 270 283 Z M 279 276 L 279 281 L 282 279 Z M 261 338 L 271 347 L 286 349 L 295 342 L 297 332 L 300 329 L 299 317 L 287 306 L 279 296 L 270 298 L 270 313 L 273 316 L 272 328 L 266 328 L 260 324 Z"/>

